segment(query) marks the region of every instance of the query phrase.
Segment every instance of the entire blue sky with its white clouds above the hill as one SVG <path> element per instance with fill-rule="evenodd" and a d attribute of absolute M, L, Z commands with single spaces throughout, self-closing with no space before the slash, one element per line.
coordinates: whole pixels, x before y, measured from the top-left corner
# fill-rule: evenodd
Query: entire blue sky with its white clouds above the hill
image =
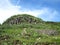
<path fill-rule="evenodd" d="M 0 0 L 0 23 L 21 13 L 60 22 L 60 0 Z"/>

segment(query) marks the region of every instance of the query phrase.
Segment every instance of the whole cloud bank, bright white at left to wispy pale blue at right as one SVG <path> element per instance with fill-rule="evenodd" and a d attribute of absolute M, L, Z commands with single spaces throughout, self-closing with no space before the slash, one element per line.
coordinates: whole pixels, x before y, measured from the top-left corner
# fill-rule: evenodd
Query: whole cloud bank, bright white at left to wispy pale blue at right
<path fill-rule="evenodd" d="M 19 1 L 18 1 L 19 2 Z M 18 4 L 17 2 L 17 4 Z M 40 10 L 22 10 L 23 8 L 18 5 L 13 5 L 10 0 L 0 0 L 0 23 L 3 23 L 7 18 L 16 14 L 31 14 L 36 17 L 40 17 L 43 20 L 54 20 L 58 12 L 50 8 L 44 7 Z"/>

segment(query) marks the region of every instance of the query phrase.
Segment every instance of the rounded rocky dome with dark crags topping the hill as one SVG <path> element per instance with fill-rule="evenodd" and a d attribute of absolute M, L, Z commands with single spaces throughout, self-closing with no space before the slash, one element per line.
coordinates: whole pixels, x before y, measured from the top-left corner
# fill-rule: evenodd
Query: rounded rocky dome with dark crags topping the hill
<path fill-rule="evenodd" d="M 3 24 L 21 24 L 21 23 L 39 23 L 42 19 L 36 18 L 28 14 L 19 14 L 10 17 Z"/>

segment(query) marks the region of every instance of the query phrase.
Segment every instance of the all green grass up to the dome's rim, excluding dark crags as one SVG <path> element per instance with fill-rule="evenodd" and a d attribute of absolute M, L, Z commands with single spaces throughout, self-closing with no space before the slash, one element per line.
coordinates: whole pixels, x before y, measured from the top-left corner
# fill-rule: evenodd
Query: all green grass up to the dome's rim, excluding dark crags
<path fill-rule="evenodd" d="M 21 15 L 22 16 L 22 15 Z M 23 15 L 25 18 L 25 15 Z M 28 15 L 29 16 L 29 15 Z M 13 16 L 14 19 L 17 18 Z M 13 19 L 13 17 L 11 17 Z M 19 17 L 19 15 L 18 15 Z M 30 16 L 34 20 L 36 17 Z M 8 19 L 10 20 L 10 18 Z M 37 18 L 39 23 L 26 23 L 9 25 L 7 22 L 0 25 L 0 45 L 59 45 L 60 44 L 60 23 L 59 22 L 42 22 Z M 40 22 L 41 21 L 41 22 Z M 7 23 L 7 24 L 6 24 Z M 24 31 L 25 30 L 25 31 Z M 57 35 L 41 34 L 40 30 L 56 30 Z M 17 45 L 16 44 L 16 45 Z"/>

